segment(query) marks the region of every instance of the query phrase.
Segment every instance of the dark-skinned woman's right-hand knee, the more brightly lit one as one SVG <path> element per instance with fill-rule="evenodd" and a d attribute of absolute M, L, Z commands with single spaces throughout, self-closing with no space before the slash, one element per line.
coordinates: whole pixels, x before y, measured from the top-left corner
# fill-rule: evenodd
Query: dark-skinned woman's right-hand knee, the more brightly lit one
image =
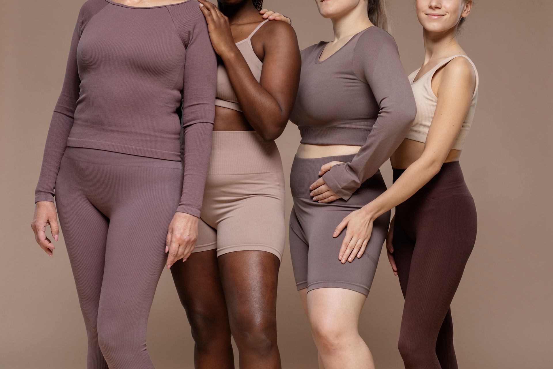
<path fill-rule="evenodd" d="M 269 354 L 276 347 L 276 319 L 256 319 L 253 314 L 238 319 L 232 336 L 238 350 L 253 351 L 258 355 Z"/>

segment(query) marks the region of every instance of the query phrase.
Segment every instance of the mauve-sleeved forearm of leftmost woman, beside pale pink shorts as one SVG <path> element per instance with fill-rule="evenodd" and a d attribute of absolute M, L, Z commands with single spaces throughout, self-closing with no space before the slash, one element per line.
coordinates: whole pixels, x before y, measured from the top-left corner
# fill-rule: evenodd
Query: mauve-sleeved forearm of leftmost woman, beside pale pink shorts
<path fill-rule="evenodd" d="M 184 131 L 182 195 L 176 211 L 200 217 L 211 156 L 213 124 L 196 123 Z"/>

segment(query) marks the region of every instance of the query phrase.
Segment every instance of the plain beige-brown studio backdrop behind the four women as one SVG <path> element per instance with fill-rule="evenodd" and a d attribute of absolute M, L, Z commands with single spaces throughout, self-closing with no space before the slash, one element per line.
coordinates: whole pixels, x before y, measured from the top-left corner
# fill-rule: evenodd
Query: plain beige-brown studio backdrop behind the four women
<path fill-rule="evenodd" d="M 0 0 L 0 369 L 85 367 L 86 332 L 63 238 L 50 259 L 29 227 L 46 132 L 83 2 Z M 411 72 L 424 58 L 414 1 L 389 3 L 393 35 Z M 478 208 L 478 238 L 452 304 L 465 369 L 553 367 L 551 3 L 476 1 L 461 38 L 481 77 L 461 159 Z M 313 0 L 271 0 L 265 7 L 293 18 L 301 48 L 332 39 L 330 21 Z M 298 142 L 290 123 L 278 139 L 285 171 Z M 383 174 L 390 183 L 389 163 Z M 290 210 L 289 193 L 286 201 Z M 397 351 L 402 308 L 383 252 L 359 324 L 378 368 L 403 367 Z M 316 368 L 288 250 L 280 269 L 278 329 L 283 367 Z M 192 368 L 193 346 L 164 272 L 149 320 L 149 352 L 158 368 Z"/>

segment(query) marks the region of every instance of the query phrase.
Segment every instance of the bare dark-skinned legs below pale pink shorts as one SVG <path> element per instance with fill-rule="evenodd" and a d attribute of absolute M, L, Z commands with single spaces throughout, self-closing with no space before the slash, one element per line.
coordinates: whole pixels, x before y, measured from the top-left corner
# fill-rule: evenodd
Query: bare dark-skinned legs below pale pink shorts
<path fill-rule="evenodd" d="M 171 267 L 194 337 L 196 369 L 232 369 L 231 335 L 240 367 L 280 368 L 276 345 L 279 258 L 258 251 L 192 253 Z"/>

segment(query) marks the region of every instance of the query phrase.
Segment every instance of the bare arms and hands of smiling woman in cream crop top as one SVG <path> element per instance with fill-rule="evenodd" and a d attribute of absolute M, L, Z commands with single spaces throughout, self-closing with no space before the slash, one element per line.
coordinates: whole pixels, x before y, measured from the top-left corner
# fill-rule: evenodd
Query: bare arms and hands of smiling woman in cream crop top
<path fill-rule="evenodd" d="M 426 138 L 424 152 L 419 159 L 409 165 L 387 191 L 361 209 L 353 211 L 336 227 L 334 237 L 347 227 L 345 241 L 339 252 L 342 262 L 346 259 L 351 262 L 354 257 L 361 257 L 371 237 L 374 220 L 409 199 L 440 171 L 461 130 L 475 86 L 474 69 L 465 58 L 453 59 L 444 67 L 444 75 L 437 89 L 436 111 Z M 359 239 L 364 240 L 360 248 L 356 247 Z M 387 242 L 391 243 L 391 241 L 389 235 Z M 388 252 L 391 253 L 393 248 L 389 246 Z M 390 259 L 390 263 L 392 262 L 393 257 Z M 394 273 L 397 273 L 397 269 L 394 269 Z"/>

